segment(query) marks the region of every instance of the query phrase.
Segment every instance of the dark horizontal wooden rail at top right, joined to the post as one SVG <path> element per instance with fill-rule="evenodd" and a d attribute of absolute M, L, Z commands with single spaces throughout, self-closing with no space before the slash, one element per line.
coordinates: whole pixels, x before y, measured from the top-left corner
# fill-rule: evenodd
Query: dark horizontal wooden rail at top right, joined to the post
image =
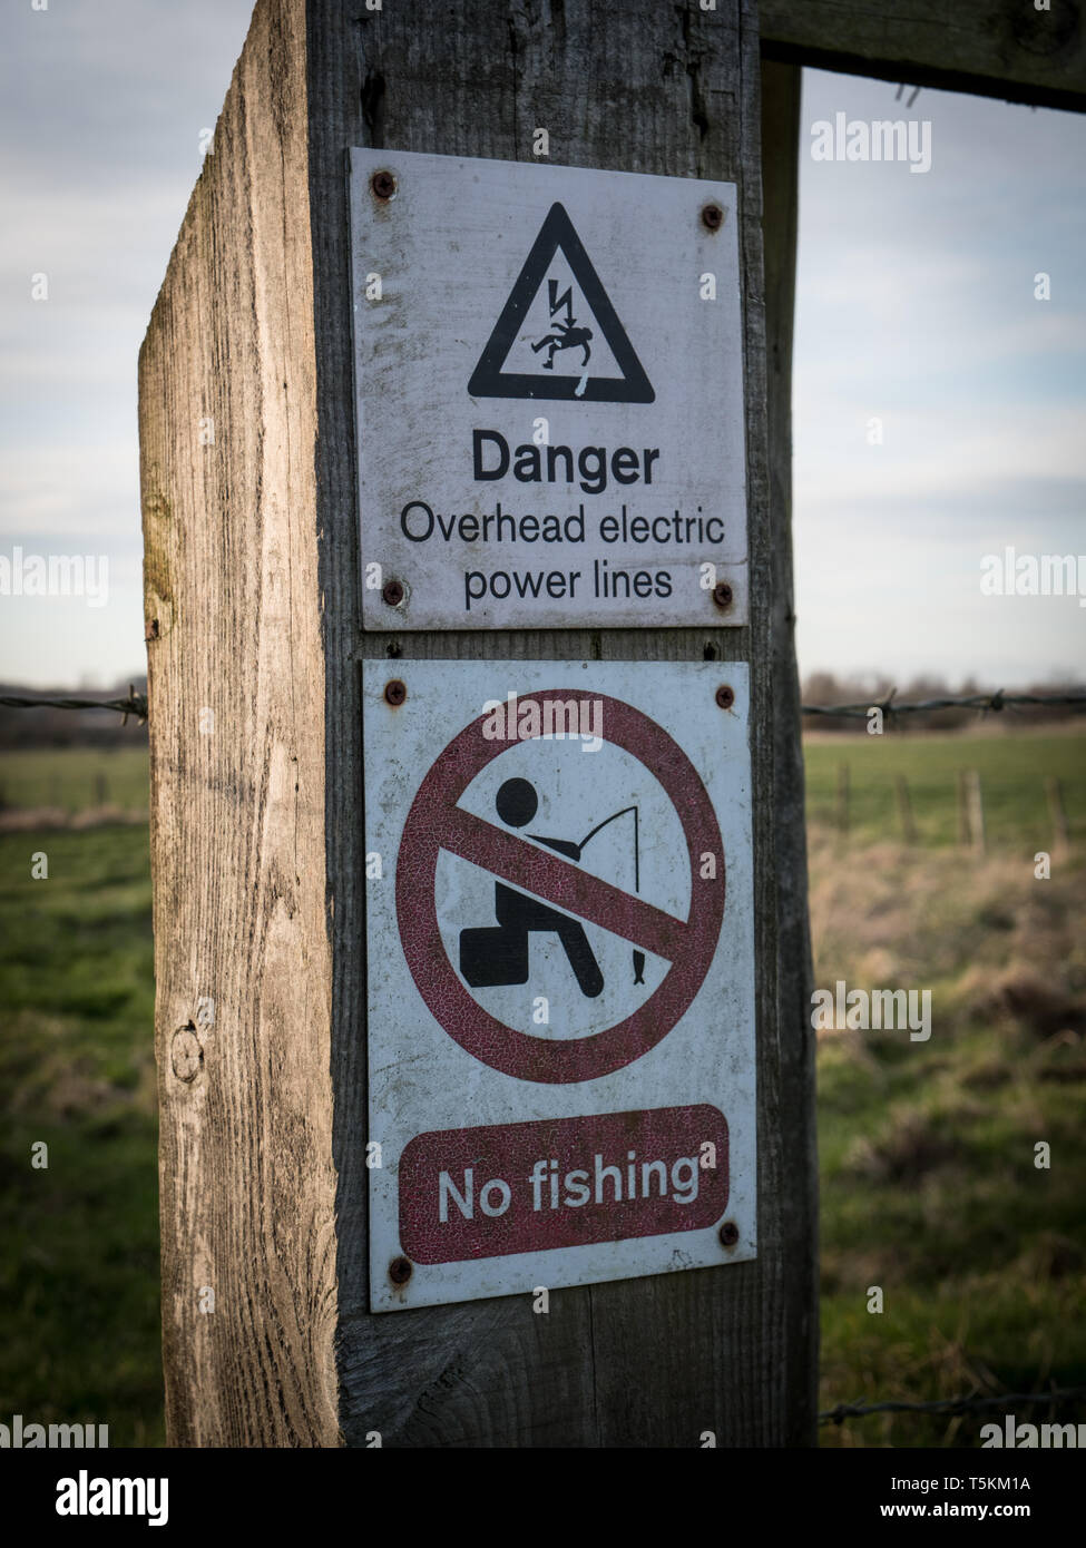
<path fill-rule="evenodd" d="M 1081 0 L 761 0 L 767 57 L 1086 110 Z"/>

